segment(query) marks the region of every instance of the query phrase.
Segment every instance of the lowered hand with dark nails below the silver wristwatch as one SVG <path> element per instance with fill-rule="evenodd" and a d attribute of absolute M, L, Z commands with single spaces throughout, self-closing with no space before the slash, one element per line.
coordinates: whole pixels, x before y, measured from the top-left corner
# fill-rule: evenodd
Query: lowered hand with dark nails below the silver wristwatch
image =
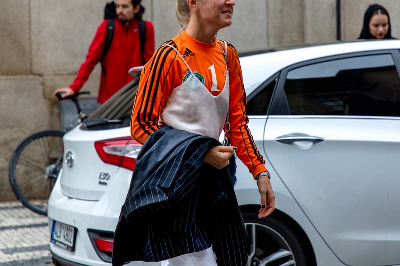
<path fill-rule="evenodd" d="M 258 211 L 258 218 L 265 218 L 275 210 L 275 194 L 267 176 L 260 176 L 257 180 L 258 191 L 261 194 L 261 208 Z"/>

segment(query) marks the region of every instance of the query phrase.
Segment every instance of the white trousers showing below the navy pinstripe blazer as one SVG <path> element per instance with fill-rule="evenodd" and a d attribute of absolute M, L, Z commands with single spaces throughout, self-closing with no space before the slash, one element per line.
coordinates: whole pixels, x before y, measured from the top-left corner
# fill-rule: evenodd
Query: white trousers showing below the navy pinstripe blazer
<path fill-rule="evenodd" d="M 161 262 L 161 266 L 217 266 L 212 247 Z"/>

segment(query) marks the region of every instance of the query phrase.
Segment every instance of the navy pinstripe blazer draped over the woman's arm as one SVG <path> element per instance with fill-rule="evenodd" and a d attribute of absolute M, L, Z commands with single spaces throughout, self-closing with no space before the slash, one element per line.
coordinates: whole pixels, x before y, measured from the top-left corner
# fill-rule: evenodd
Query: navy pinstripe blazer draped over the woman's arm
<path fill-rule="evenodd" d="M 112 265 L 162 261 L 213 247 L 218 266 L 243 266 L 246 230 L 226 169 L 204 164 L 220 143 L 164 126 L 136 160 L 114 236 Z"/>

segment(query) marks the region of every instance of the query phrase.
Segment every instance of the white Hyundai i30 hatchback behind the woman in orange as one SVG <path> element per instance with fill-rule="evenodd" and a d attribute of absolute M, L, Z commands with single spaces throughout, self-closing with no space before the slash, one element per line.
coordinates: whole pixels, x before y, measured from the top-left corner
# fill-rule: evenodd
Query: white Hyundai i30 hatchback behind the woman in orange
<path fill-rule="evenodd" d="M 249 127 L 271 172 L 276 210 L 238 161 L 248 266 L 400 265 L 400 40 L 241 55 Z M 64 136 L 48 202 L 57 266 L 109 266 L 140 145 L 132 82 Z M 130 265 L 159 265 L 143 262 Z"/>

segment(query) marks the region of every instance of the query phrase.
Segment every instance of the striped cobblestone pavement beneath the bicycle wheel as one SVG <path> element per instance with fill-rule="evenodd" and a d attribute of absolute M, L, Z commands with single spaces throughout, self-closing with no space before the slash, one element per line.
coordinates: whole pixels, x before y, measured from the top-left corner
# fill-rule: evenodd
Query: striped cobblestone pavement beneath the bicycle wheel
<path fill-rule="evenodd" d="M 47 224 L 19 202 L 0 202 L 0 265 L 54 266 Z"/>

